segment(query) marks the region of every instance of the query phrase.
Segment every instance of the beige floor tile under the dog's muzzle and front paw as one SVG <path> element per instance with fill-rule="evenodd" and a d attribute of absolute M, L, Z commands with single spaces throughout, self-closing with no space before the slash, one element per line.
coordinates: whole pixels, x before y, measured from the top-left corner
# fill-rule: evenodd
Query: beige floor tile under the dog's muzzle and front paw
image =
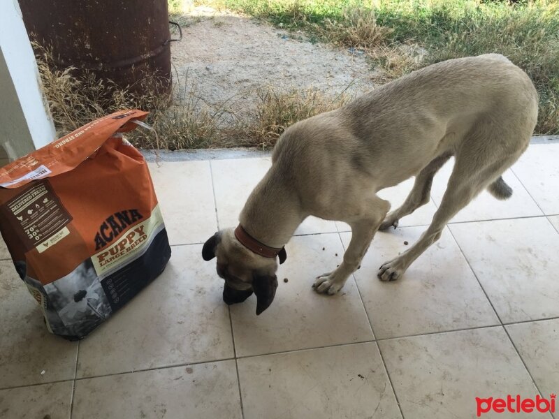
<path fill-rule="evenodd" d="M 237 355 L 373 339 L 353 279 L 333 296 L 319 295 L 311 287 L 315 277 L 335 269 L 342 260 L 337 233 L 293 237 L 286 251 L 287 260 L 279 267 L 279 286 L 272 305 L 260 316 L 255 314 L 254 295 L 231 306 Z M 289 282 L 285 283 L 284 278 Z"/>

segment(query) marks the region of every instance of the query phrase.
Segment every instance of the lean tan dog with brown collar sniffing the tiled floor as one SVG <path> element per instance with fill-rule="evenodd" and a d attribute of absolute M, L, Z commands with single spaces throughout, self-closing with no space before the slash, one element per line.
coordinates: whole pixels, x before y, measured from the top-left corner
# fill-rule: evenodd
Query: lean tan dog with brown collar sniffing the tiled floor
<path fill-rule="evenodd" d="M 351 242 L 342 263 L 314 281 L 333 295 L 361 263 L 379 229 L 428 203 L 433 176 L 454 156 L 440 207 L 419 240 L 378 272 L 394 281 L 447 222 L 483 189 L 511 196 L 501 175 L 528 147 L 538 96 L 528 75 L 500 54 L 451 59 L 384 84 L 351 103 L 293 124 L 273 150 L 272 166 L 250 194 L 237 228 L 203 245 L 217 257 L 227 304 L 254 291 L 256 314 L 272 303 L 277 259 L 307 216 L 345 221 Z M 389 212 L 377 191 L 415 177 L 405 202 Z"/>

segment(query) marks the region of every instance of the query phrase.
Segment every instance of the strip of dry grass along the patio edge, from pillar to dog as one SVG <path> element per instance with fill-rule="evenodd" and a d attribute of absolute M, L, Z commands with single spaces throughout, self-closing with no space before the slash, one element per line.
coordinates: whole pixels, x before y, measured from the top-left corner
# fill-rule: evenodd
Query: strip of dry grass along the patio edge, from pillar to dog
<path fill-rule="evenodd" d="M 256 108 L 235 112 L 235 98 L 219 106 L 205 103 L 188 75 L 175 80 L 171 94 L 134 93 L 135 87 L 117 87 L 92 73 L 75 68 L 57 69 L 52 53 L 34 45 L 43 94 L 59 137 L 93 119 L 117 110 L 138 108 L 150 113 L 146 122 L 154 131 L 136 129 L 127 135 L 133 145 L 145 149 L 194 149 L 208 147 L 273 147 L 286 127 L 347 102 L 345 90 L 335 97 L 317 89 L 256 91 Z M 146 77 L 153 86 L 157 80 Z M 149 90 L 148 90 L 149 91 Z M 243 92 L 250 94 L 250 92 Z M 157 133 L 157 135 L 155 134 Z"/>

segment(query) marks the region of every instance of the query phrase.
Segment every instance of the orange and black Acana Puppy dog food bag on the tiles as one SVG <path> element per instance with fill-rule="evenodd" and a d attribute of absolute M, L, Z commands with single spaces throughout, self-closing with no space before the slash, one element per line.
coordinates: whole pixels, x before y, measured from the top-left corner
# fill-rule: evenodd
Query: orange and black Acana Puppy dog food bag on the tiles
<path fill-rule="evenodd" d="M 170 258 L 147 163 L 122 137 L 146 115 L 115 112 L 0 168 L 0 231 L 55 335 L 85 337 Z"/>

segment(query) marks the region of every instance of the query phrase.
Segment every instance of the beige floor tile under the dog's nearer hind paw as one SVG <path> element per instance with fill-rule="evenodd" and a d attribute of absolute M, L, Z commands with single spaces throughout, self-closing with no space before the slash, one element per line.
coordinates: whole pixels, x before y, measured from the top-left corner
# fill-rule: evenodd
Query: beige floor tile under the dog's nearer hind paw
<path fill-rule="evenodd" d="M 377 339 L 499 324 L 446 228 L 403 277 L 392 282 L 377 279 L 380 265 L 409 249 L 425 229 L 377 233 L 361 269 L 354 274 Z M 342 233 L 346 247 L 350 238 L 351 234 Z"/>

